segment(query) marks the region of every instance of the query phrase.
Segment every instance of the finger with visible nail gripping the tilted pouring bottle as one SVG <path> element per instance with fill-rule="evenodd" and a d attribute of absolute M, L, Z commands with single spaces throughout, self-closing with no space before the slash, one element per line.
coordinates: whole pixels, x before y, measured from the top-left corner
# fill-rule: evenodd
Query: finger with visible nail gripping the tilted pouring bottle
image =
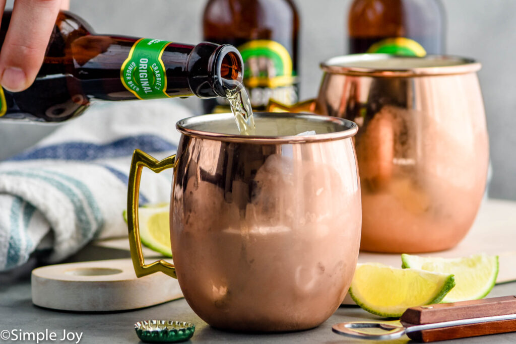
<path fill-rule="evenodd" d="M 15 0 L 0 52 L 0 85 L 17 92 L 36 78 L 61 0 Z"/>

